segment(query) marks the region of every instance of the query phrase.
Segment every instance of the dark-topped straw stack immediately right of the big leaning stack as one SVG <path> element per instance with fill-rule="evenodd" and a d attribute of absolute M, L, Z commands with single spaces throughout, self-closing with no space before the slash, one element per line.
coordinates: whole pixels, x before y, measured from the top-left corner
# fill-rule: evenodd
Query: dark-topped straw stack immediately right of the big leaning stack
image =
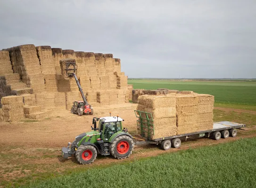
<path fill-rule="evenodd" d="M 55 63 L 53 61 L 52 51 L 50 46 L 36 47 L 37 57 L 41 65 L 41 71 L 43 74 L 55 75 Z"/>

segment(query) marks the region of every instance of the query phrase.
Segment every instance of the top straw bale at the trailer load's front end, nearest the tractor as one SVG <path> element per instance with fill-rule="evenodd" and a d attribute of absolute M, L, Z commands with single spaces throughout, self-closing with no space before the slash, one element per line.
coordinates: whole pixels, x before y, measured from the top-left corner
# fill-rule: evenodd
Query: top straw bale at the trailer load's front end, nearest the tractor
<path fill-rule="evenodd" d="M 147 108 L 175 107 L 176 99 L 173 96 L 166 95 L 142 95 L 138 98 L 138 104 Z"/>

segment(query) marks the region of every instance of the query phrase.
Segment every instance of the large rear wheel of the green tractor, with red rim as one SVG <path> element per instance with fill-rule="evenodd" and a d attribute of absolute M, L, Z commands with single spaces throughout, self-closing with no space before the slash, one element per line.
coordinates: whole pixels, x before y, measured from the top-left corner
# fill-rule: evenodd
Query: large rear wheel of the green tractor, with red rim
<path fill-rule="evenodd" d="M 121 135 L 110 145 L 110 154 L 117 159 L 127 158 L 132 154 L 133 147 L 130 136 Z"/>

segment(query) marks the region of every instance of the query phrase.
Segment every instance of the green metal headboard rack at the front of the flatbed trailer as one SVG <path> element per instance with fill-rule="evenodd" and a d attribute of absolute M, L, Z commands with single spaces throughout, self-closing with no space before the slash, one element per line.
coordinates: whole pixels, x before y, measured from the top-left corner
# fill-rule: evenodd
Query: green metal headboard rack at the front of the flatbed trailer
<path fill-rule="evenodd" d="M 137 119 L 137 127 L 140 129 L 140 136 L 148 138 L 150 135 L 154 135 L 154 120 L 152 114 L 140 110 L 134 110 Z"/>

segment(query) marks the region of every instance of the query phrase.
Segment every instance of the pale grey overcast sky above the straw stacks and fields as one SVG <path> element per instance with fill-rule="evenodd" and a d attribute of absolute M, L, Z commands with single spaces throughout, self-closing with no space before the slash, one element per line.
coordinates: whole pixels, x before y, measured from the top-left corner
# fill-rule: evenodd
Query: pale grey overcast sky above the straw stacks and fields
<path fill-rule="evenodd" d="M 256 78 L 256 0 L 0 0 L 0 49 L 121 59 L 129 78 Z"/>

